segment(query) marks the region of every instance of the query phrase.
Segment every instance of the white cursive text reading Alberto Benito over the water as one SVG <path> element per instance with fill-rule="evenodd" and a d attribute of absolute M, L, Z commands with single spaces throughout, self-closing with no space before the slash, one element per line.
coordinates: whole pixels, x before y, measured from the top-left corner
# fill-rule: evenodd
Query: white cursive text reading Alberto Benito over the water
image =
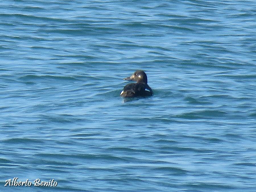
<path fill-rule="evenodd" d="M 25 186 L 30 187 L 32 182 L 28 179 L 26 181 L 17 181 L 18 177 L 14 177 L 13 179 L 8 179 L 5 182 L 5 186 Z M 34 180 L 34 186 L 46 186 L 46 187 L 56 187 L 58 185 L 57 181 L 54 179 L 50 179 L 50 181 L 40 181 L 40 179 Z"/>

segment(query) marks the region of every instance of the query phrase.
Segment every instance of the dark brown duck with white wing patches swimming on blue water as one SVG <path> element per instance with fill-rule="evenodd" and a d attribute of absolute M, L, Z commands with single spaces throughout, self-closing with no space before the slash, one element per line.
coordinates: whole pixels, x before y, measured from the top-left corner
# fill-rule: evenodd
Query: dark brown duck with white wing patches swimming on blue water
<path fill-rule="evenodd" d="M 120 96 L 122 97 L 147 97 L 152 96 L 153 91 L 148 86 L 148 78 L 144 71 L 137 70 L 130 77 L 123 78 L 123 80 L 136 81 L 136 83 L 129 83 L 125 85 Z"/>

